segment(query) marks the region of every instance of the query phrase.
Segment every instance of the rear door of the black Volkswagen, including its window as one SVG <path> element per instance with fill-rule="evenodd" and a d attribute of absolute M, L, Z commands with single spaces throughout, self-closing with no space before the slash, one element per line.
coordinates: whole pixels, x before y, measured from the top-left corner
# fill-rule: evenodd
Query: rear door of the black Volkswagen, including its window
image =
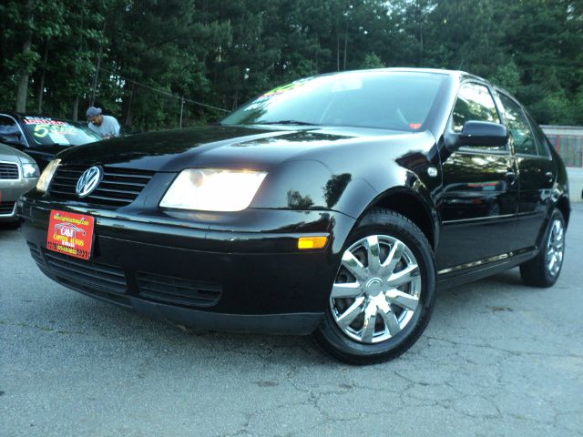
<path fill-rule="evenodd" d="M 497 94 L 518 169 L 517 249 L 533 249 L 547 217 L 556 169 L 537 124 L 512 97 Z"/>

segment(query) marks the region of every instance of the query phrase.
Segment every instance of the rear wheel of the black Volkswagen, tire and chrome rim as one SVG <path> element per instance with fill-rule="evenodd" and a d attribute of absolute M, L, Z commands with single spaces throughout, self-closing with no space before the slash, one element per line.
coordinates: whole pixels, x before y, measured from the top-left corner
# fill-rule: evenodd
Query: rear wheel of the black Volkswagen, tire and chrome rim
<path fill-rule="evenodd" d="M 527 285 L 550 287 L 557 282 L 564 255 L 565 219 L 561 211 L 555 209 L 537 257 L 520 266 L 520 277 Z"/>

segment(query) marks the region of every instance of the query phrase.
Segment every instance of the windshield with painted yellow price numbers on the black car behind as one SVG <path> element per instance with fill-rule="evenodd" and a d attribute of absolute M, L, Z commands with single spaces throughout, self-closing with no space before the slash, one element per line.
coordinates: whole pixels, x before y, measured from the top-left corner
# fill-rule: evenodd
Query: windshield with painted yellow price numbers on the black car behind
<path fill-rule="evenodd" d="M 26 131 L 39 146 L 79 146 L 101 139 L 80 123 L 44 117 L 25 117 L 23 121 Z"/>

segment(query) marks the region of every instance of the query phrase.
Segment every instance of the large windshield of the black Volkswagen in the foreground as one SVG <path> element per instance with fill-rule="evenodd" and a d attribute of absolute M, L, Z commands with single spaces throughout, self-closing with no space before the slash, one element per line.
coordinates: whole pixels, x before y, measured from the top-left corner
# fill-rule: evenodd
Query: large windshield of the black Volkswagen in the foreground
<path fill-rule="evenodd" d="M 279 86 L 221 125 L 326 125 L 414 132 L 424 125 L 445 75 L 367 71 L 315 76 Z"/>

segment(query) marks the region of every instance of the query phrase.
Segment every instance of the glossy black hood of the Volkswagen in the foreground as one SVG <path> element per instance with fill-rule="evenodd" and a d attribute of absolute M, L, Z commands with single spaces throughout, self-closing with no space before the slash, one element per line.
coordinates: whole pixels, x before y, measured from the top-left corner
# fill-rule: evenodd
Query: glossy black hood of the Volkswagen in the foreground
<path fill-rule="evenodd" d="M 269 169 L 293 158 L 314 157 L 323 149 L 354 142 L 421 134 L 347 127 L 198 127 L 113 138 L 71 147 L 58 155 L 63 164 L 107 165 L 176 172 L 184 168 Z M 426 135 L 426 133 L 425 133 Z"/>

